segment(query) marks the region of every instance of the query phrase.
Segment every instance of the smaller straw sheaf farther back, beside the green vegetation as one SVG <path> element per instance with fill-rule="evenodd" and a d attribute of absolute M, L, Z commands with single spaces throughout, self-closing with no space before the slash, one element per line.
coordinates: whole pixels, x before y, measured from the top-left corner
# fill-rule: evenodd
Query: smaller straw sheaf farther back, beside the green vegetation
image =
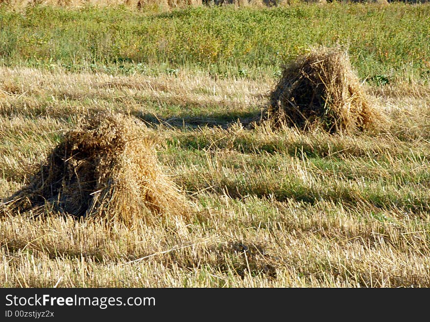
<path fill-rule="evenodd" d="M 320 127 L 330 133 L 363 130 L 383 118 L 362 87 L 347 51 L 314 49 L 284 67 L 261 118 L 275 127 Z"/>

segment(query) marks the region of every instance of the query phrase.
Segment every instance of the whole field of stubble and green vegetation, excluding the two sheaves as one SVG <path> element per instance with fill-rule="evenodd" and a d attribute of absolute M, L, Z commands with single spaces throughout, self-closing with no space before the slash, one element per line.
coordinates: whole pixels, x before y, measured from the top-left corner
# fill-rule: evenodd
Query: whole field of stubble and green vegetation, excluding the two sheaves
<path fill-rule="evenodd" d="M 5 214 L 2 287 L 430 286 L 430 5 L 40 4 L 0 5 L 0 198 L 109 110 L 142 122 L 195 213 Z M 241 127 L 318 45 L 348 49 L 387 127 Z"/>

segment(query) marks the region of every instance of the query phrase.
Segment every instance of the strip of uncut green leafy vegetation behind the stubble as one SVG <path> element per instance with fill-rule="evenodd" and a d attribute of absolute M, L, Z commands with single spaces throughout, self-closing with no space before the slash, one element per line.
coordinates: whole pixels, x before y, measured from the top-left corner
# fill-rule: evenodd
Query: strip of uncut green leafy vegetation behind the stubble
<path fill-rule="evenodd" d="M 343 45 L 362 79 L 428 80 L 430 5 L 198 7 L 159 13 L 127 7 L 0 6 L 0 64 L 113 74 L 214 77 L 280 74 L 309 46 Z"/>

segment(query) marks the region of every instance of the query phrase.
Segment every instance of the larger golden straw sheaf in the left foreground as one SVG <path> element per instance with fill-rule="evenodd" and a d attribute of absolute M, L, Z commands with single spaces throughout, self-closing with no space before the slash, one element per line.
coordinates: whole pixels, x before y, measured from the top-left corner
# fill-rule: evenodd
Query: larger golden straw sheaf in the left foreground
<path fill-rule="evenodd" d="M 163 174 L 154 144 L 132 118 L 99 114 L 70 130 L 30 184 L 5 205 L 8 213 L 102 216 L 131 224 L 183 215 L 190 204 Z"/>

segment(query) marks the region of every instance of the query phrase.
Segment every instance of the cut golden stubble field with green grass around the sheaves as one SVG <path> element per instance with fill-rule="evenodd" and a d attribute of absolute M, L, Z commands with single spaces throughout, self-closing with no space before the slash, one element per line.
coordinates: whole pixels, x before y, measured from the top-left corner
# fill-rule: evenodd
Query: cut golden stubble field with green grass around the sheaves
<path fill-rule="evenodd" d="M 111 110 L 147 127 L 195 205 L 132 229 L 3 218 L 3 287 L 430 286 L 429 86 L 368 87 L 387 128 L 329 135 L 241 127 L 267 103 L 267 75 L 0 73 L 0 198 L 79 115 Z"/>

